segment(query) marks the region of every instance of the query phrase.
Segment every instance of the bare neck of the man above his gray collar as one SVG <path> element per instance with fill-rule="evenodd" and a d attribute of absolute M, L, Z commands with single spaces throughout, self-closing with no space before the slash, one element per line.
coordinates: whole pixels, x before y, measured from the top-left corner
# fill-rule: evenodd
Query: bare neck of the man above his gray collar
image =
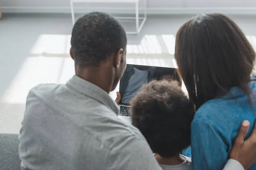
<path fill-rule="evenodd" d="M 111 91 L 111 75 L 108 70 L 99 67 L 76 68 L 76 76 L 84 79 L 99 88 L 102 88 L 108 94 Z"/>

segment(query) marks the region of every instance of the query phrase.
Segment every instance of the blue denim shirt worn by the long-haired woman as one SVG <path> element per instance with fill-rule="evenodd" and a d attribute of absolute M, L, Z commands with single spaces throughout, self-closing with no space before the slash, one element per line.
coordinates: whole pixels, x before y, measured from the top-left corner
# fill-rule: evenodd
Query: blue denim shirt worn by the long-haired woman
<path fill-rule="evenodd" d="M 250 82 L 256 93 L 256 82 Z M 236 99 L 230 94 L 237 96 Z M 191 147 L 194 170 L 222 170 L 243 120 L 250 122 L 250 135 L 256 118 L 247 96 L 237 87 L 230 94 L 212 99 L 195 113 L 191 124 Z M 256 163 L 248 170 L 256 170 Z"/>

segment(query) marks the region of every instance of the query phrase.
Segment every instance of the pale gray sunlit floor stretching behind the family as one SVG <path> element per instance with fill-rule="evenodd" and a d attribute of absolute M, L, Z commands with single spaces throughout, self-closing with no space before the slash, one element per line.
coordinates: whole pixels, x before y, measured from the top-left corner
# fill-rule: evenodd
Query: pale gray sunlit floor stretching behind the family
<path fill-rule="evenodd" d="M 128 63 L 175 66 L 175 34 L 190 18 L 149 16 L 139 35 L 128 35 Z M 256 46 L 256 16 L 230 16 Z M 128 31 L 134 22 L 122 22 Z M 0 133 L 18 133 L 26 95 L 39 83 L 64 83 L 73 74 L 68 55 L 70 15 L 3 14 L 0 20 Z"/>

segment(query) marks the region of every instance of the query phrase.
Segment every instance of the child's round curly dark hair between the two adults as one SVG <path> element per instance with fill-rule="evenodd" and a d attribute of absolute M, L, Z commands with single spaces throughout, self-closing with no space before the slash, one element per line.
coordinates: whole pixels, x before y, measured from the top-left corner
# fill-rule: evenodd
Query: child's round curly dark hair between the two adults
<path fill-rule="evenodd" d="M 163 157 L 177 156 L 190 145 L 194 107 L 176 81 L 153 80 L 131 100 L 132 125 L 151 150 Z"/>

